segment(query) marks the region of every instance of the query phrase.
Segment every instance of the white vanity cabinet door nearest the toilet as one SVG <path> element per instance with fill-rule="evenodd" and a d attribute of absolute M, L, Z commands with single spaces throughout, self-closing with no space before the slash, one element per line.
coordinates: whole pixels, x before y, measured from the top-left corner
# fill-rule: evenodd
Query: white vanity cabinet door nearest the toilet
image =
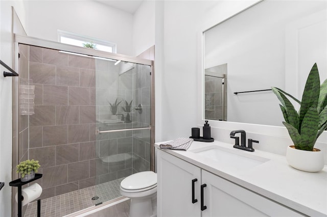
<path fill-rule="evenodd" d="M 157 152 L 157 164 L 157 216 L 200 217 L 201 169 L 161 150 Z M 193 181 L 192 198 L 194 179 L 197 181 Z"/>

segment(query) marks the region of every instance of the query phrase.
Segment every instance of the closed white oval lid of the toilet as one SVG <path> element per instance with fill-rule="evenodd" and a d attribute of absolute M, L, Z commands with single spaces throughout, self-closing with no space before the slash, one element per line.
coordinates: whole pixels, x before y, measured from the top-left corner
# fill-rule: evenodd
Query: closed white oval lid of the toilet
<path fill-rule="evenodd" d="M 157 174 L 152 171 L 135 173 L 121 182 L 121 187 L 128 190 L 143 189 L 157 184 Z"/>

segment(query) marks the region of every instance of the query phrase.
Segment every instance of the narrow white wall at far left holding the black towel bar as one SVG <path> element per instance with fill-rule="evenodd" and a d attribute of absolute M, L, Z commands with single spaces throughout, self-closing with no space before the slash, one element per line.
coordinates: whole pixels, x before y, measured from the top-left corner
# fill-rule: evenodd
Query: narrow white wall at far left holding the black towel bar
<path fill-rule="evenodd" d="M 0 1 L 0 59 L 13 68 L 12 8 L 27 26 L 28 6 L 24 1 Z M 6 70 L 1 67 L 1 73 Z M 6 70 L 8 71 L 8 70 Z M 11 216 L 12 181 L 12 77 L 0 76 L 0 181 L 5 182 L 0 192 L 0 216 Z"/>

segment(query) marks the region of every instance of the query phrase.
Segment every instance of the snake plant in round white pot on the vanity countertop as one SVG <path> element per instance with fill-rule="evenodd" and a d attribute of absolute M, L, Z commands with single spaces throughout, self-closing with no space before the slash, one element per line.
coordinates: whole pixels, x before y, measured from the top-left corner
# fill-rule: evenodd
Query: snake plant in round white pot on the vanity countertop
<path fill-rule="evenodd" d="M 314 148 L 314 145 L 327 129 L 327 79 L 320 85 L 315 63 L 307 78 L 301 101 L 279 88 L 272 87 L 272 91 L 282 103 L 279 106 L 285 119 L 283 124 L 294 144 L 286 152 L 289 165 L 306 172 L 322 170 L 323 152 Z M 286 96 L 300 104 L 298 112 Z"/>

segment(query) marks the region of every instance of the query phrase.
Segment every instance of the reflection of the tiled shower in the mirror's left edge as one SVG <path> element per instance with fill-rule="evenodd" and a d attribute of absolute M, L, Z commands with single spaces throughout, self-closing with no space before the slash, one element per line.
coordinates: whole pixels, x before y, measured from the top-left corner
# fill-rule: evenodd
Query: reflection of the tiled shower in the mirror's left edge
<path fill-rule="evenodd" d="M 204 71 L 204 119 L 227 120 L 227 64 Z"/>

